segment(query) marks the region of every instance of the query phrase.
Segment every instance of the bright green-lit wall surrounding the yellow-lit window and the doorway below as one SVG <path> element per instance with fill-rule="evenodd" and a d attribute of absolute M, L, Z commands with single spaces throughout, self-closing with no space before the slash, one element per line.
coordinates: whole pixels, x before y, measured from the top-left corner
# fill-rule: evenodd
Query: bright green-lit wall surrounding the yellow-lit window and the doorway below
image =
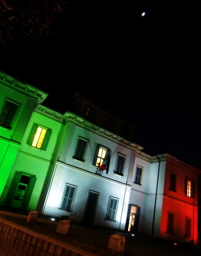
<path fill-rule="evenodd" d="M 40 150 L 27 144 L 27 139 L 34 123 L 40 124 L 52 130 L 46 150 Z M 56 143 L 58 143 L 60 140 L 59 134 L 62 126 L 63 124 L 44 116 L 43 113 L 32 113 L 27 125 L 27 129 L 22 138 L 20 149 L 17 152 L 16 159 L 12 165 L 10 175 L 7 177 L 6 187 L 2 188 L 4 191 L 0 200 L 1 205 L 3 205 L 6 201 L 6 197 L 11 188 L 16 171 L 20 171 L 28 175 L 36 176 L 36 183 L 34 185 L 27 210 L 37 210 L 41 194 L 43 191 L 47 191 L 45 186 L 49 185 L 49 180 L 51 180 L 51 175 L 54 170 L 53 158 L 56 155 Z"/>

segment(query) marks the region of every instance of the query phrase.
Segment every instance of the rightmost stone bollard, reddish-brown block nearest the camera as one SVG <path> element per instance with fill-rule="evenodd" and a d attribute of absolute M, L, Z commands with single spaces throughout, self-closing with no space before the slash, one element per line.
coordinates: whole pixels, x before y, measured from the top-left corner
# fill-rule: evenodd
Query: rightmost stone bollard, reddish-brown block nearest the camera
<path fill-rule="evenodd" d="M 115 253 L 123 253 L 125 244 L 125 236 L 114 234 L 110 236 L 108 249 Z"/>

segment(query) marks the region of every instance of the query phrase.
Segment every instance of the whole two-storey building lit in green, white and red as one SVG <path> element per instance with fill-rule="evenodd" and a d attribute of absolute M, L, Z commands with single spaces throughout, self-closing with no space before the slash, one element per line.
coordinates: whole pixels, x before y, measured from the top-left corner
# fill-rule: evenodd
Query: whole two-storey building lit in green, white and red
<path fill-rule="evenodd" d="M 143 153 L 135 126 L 83 95 L 65 114 L 47 96 L 0 73 L 1 206 L 197 245 L 201 170 Z"/>

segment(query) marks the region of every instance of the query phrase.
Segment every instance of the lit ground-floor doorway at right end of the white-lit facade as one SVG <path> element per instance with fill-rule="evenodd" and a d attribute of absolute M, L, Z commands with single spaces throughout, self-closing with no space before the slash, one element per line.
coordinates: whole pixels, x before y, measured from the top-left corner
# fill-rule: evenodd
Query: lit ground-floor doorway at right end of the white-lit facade
<path fill-rule="evenodd" d="M 129 204 L 125 231 L 137 233 L 140 218 L 140 207 Z"/>

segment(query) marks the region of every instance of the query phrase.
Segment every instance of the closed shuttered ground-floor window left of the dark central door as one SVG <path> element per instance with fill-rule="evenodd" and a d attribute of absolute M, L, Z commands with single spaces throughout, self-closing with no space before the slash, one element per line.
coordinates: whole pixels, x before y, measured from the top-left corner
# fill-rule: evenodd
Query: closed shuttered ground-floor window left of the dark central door
<path fill-rule="evenodd" d="M 61 201 L 61 209 L 65 209 L 68 211 L 72 210 L 72 205 L 75 199 L 77 187 L 73 185 L 69 185 L 66 183 L 64 194 Z"/>

